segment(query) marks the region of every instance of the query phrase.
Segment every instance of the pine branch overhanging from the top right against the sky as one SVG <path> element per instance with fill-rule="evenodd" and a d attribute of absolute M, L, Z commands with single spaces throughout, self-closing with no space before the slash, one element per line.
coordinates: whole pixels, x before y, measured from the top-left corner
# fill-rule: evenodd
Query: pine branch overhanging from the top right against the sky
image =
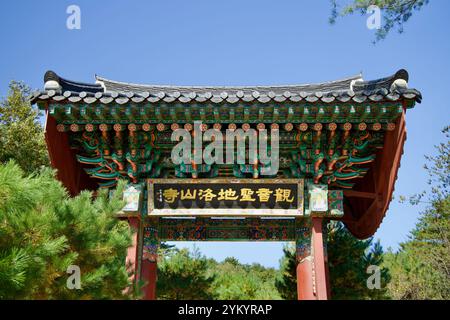
<path fill-rule="evenodd" d="M 365 15 L 367 8 L 371 5 L 378 6 L 382 12 L 382 26 L 377 30 L 375 41 L 386 38 L 389 32 L 397 28 L 399 33 L 403 33 L 404 24 L 411 18 L 414 11 L 419 11 L 427 5 L 429 0 L 352 0 L 350 3 L 340 7 L 341 1 L 331 1 L 330 23 L 334 24 L 339 16 L 347 16 L 353 13 Z"/>

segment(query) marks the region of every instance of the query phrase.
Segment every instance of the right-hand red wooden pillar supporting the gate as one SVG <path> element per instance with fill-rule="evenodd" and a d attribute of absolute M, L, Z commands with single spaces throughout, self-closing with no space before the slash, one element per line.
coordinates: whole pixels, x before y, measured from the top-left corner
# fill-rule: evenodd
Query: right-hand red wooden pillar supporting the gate
<path fill-rule="evenodd" d="M 299 223 L 296 230 L 298 299 L 327 300 L 322 218 L 304 219 Z"/>

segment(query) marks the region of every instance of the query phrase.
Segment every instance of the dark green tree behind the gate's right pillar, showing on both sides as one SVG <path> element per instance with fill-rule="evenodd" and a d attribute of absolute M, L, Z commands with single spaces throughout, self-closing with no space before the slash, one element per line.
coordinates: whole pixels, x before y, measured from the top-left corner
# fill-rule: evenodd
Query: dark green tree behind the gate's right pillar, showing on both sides
<path fill-rule="evenodd" d="M 381 266 L 383 250 L 372 239 L 357 240 L 341 223 L 330 222 L 327 226 L 328 266 L 330 272 L 331 298 L 384 299 L 390 276 L 387 268 L 381 268 L 381 288 L 369 289 L 366 273 L 369 266 Z M 294 246 L 284 248 L 277 289 L 284 299 L 297 299 L 296 254 Z"/>

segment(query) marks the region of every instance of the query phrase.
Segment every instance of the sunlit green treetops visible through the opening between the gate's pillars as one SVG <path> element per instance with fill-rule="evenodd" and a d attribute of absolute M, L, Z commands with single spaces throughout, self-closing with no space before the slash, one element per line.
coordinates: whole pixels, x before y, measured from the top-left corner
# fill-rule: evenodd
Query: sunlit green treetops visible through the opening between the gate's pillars
<path fill-rule="evenodd" d="M 241 264 L 236 258 L 218 263 L 198 250 L 169 249 L 158 263 L 160 299 L 268 300 L 280 299 L 276 270 Z"/>

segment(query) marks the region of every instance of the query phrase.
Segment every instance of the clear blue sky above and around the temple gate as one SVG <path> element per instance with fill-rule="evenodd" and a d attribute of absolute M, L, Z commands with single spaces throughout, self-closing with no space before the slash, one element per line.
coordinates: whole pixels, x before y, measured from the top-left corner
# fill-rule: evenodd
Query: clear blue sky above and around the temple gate
<path fill-rule="evenodd" d="M 81 30 L 66 28 L 69 5 Z M 328 24 L 321 1 L 3 1 L 0 9 L 0 96 L 11 80 L 42 88 L 46 70 L 93 82 L 179 85 L 296 84 L 362 72 L 375 79 L 405 68 L 423 103 L 407 114 L 408 140 L 395 194 L 426 188 L 424 154 L 450 124 L 450 2 L 431 1 L 406 25 L 372 44 L 365 16 Z M 407 239 L 421 207 L 393 201 L 375 237 L 385 248 Z M 181 243 L 180 245 L 187 245 Z M 198 243 L 219 260 L 278 266 L 280 243 Z"/>

